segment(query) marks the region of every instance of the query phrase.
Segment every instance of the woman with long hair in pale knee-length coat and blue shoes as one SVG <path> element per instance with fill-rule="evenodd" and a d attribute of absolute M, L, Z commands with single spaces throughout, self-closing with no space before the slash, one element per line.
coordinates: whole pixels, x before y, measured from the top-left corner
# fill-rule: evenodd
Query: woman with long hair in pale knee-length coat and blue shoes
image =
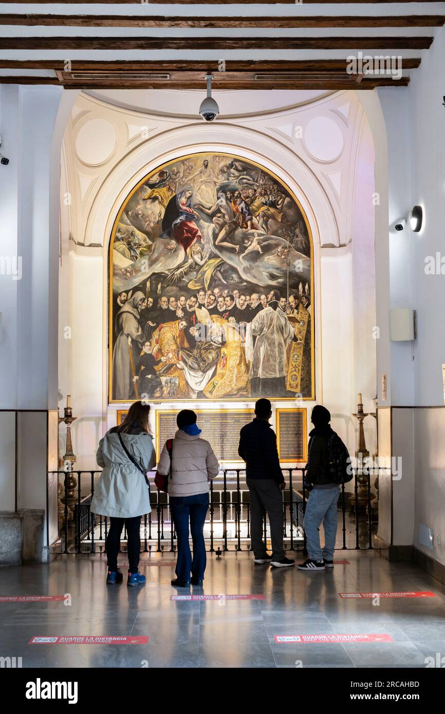
<path fill-rule="evenodd" d="M 142 585 L 144 575 L 138 570 L 141 553 L 141 517 L 150 513 L 150 488 L 146 472 L 156 463 L 149 426 L 150 407 L 135 402 L 121 426 L 106 432 L 99 443 L 96 460 L 104 468 L 91 499 L 91 511 L 108 516 L 106 537 L 108 562 L 107 585 L 121 583 L 117 554 L 124 523 L 127 534 L 129 577 L 127 585 Z"/>

